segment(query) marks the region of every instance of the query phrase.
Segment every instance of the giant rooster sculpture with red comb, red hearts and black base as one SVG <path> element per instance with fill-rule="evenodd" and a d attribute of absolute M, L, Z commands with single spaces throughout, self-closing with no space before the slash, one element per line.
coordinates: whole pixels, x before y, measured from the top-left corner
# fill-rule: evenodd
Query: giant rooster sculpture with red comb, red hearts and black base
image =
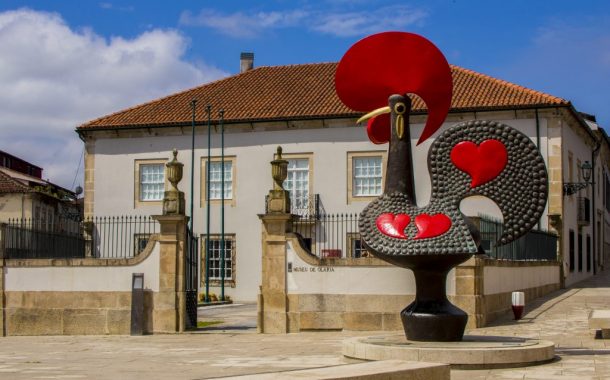
<path fill-rule="evenodd" d="M 339 98 L 368 112 L 367 132 L 389 142 L 383 194 L 360 214 L 360 234 L 375 256 L 412 269 L 415 301 L 401 312 L 407 339 L 462 340 L 468 316 L 446 296 L 451 268 L 479 250 L 479 232 L 459 209 L 462 199 L 493 200 L 504 218 L 498 245 L 523 236 L 538 223 L 547 199 L 547 172 L 533 142 L 494 121 L 468 121 L 442 132 L 428 151 L 430 202 L 418 207 L 409 129 L 411 97 L 428 117 L 417 145 L 443 124 L 451 106 L 451 69 L 427 39 L 404 32 L 364 38 L 344 55 L 335 76 Z"/>

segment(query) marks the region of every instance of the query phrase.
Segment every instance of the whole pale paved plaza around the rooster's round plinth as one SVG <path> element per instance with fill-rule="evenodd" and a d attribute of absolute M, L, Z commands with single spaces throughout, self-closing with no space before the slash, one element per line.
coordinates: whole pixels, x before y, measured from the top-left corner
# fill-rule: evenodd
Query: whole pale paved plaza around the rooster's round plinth
<path fill-rule="evenodd" d="M 557 343 L 557 360 L 526 368 L 452 370 L 467 379 L 610 379 L 610 340 L 590 335 L 593 309 L 610 309 L 610 271 L 507 315 L 476 335 L 521 336 Z M 205 331 L 130 336 L 0 338 L 0 379 L 205 379 L 355 363 L 341 342 L 367 332 L 259 335 L 255 305 L 201 308 L 200 320 L 222 320 Z"/>

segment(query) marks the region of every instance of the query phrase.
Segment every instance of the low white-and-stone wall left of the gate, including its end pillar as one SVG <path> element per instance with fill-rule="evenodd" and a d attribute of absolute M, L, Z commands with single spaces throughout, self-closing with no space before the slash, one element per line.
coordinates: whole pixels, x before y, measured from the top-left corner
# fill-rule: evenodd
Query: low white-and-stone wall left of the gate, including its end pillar
<path fill-rule="evenodd" d="M 131 259 L 4 259 L 0 251 L 0 336 L 130 334 L 133 273 L 144 273 L 144 332 L 184 331 L 187 218 L 155 218 L 160 233 Z"/>

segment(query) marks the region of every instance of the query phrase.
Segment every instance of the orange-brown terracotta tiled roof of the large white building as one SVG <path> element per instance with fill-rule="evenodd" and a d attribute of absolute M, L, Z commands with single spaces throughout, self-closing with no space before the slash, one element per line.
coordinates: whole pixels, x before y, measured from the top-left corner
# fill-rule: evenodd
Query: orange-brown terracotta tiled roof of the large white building
<path fill-rule="evenodd" d="M 207 104 L 212 105 L 213 120 L 224 108 L 228 123 L 358 116 L 360 113 L 344 106 L 335 93 L 336 67 L 336 63 L 262 66 L 103 116 L 78 129 L 190 125 L 192 99 L 198 101 L 197 120 L 206 120 Z M 471 70 L 457 66 L 451 69 L 453 111 L 569 104 Z M 426 111 L 421 99 L 415 99 L 413 111 Z"/>

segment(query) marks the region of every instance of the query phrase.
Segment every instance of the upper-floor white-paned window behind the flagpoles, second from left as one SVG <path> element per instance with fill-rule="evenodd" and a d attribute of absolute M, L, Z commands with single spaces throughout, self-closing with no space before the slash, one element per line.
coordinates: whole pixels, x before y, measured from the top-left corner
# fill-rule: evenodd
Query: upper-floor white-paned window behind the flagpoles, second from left
<path fill-rule="evenodd" d="M 202 165 L 202 176 L 201 176 L 201 188 L 203 194 L 201 194 L 201 204 L 205 205 L 205 201 L 208 196 L 208 188 L 206 186 L 207 180 L 207 158 L 201 160 Z M 210 201 L 213 203 L 222 201 L 222 189 L 223 189 L 223 174 L 222 174 L 222 159 L 220 157 L 213 157 L 210 160 Z M 225 156 L 224 159 L 224 199 L 225 202 L 235 205 L 235 156 Z"/>

